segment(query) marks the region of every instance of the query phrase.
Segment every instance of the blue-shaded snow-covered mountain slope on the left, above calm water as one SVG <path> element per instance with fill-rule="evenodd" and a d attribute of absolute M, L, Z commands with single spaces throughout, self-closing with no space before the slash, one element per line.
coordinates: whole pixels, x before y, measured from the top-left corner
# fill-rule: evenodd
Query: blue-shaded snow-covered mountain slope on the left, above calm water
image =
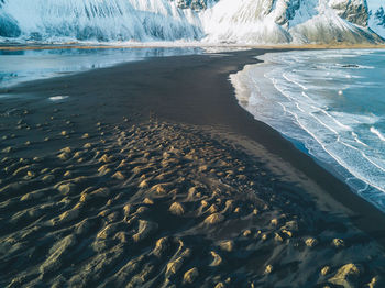
<path fill-rule="evenodd" d="M 193 40 L 202 35 L 197 13 L 167 0 L 2 1 L 1 36 L 56 42 L 143 42 Z"/>

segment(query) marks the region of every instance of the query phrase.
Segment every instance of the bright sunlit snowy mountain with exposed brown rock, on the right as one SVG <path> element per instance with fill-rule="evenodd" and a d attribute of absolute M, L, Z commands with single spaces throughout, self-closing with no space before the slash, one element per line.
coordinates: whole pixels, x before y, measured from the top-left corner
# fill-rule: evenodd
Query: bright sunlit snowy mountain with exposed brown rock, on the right
<path fill-rule="evenodd" d="M 210 42 L 378 43 L 366 0 L 220 0 L 205 12 Z"/>

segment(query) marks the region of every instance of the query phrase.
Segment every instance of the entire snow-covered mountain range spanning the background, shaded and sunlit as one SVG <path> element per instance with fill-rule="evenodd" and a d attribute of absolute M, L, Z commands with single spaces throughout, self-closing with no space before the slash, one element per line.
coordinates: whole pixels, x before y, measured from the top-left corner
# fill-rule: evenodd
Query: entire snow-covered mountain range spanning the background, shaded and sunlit
<path fill-rule="evenodd" d="M 384 16 L 377 12 L 370 13 L 366 0 L 0 0 L 0 37 L 378 43 L 373 25 Z"/>

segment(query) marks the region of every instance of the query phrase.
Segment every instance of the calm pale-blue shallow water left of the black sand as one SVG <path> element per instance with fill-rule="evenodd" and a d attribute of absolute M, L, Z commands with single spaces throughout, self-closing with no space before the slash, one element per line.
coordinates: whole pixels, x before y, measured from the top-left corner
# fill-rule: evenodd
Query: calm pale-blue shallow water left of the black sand
<path fill-rule="evenodd" d="M 189 55 L 201 52 L 202 49 L 199 47 L 0 51 L 0 88 L 151 57 Z"/>

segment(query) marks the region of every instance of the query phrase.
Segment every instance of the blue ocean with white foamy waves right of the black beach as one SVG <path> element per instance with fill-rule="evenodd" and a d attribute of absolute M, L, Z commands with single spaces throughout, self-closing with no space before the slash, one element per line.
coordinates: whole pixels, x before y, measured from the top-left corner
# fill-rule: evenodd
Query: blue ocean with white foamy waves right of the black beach
<path fill-rule="evenodd" d="M 240 104 L 385 211 L 385 51 L 297 51 L 231 75 Z"/>

